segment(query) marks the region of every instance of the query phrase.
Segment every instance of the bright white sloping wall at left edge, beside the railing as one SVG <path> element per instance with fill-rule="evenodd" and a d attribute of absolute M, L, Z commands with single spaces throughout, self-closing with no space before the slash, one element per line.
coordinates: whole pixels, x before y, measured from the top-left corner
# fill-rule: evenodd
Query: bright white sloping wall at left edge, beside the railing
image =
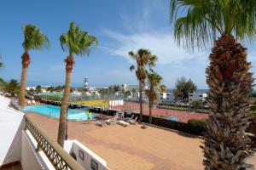
<path fill-rule="evenodd" d="M 0 105 L 0 165 L 20 161 L 21 130 L 25 127 L 24 114 L 3 106 L 6 104 Z"/>

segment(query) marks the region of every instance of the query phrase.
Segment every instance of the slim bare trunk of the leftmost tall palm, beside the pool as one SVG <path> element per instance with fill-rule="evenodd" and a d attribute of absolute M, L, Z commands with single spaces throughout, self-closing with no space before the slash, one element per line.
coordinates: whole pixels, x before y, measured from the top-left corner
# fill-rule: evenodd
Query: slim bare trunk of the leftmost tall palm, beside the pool
<path fill-rule="evenodd" d="M 21 57 L 22 61 L 22 72 L 20 77 L 20 94 L 19 94 L 19 105 L 24 106 L 26 105 L 25 102 L 25 95 L 26 95 L 26 75 L 27 75 L 27 68 L 30 64 L 30 56 L 27 52 L 22 54 Z"/>

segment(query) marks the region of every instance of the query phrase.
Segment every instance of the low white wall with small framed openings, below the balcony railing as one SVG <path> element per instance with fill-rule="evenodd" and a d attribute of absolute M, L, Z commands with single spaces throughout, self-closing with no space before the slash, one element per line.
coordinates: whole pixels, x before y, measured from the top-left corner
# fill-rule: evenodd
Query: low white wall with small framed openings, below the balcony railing
<path fill-rule="evenodd" d="M 100 156 L 97 156 L 93 151 L 79 143 L 77 140 L 67 140 L 64 144 L 64 150 L 69 153 L 74 153 L 77 157 L 77 161 L 86 170 L 92 170 L 90 167 L 91 160 L 96 161 L 98 164 L 98 170 L 109 170 L 107 167 L 107 161 L 103 160 Z M 84 153 L 84 160 L 79 158 L 79 150 Z"/>

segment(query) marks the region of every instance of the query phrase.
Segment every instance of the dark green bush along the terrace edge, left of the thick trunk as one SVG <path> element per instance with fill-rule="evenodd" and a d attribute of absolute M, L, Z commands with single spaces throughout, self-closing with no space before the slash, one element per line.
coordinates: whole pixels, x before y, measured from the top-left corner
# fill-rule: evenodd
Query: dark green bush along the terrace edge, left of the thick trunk
<path fill-rule="evenodd" d="M 201 134 L 207 130 L 207 121 L 190 119 L 188 121 L 188 128 L 189 133 Z"/>

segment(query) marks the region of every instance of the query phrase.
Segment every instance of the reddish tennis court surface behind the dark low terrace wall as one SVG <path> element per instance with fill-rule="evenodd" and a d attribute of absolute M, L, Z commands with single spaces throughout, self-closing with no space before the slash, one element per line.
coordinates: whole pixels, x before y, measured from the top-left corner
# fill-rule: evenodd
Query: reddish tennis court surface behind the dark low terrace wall
<path fill-rule="evenodd" d="M 139 104 L 138 103 L 127 103 L 125 105 L 113 106 L 112 109 L 115 110 L 131 110 L 135 112 L 139 112 Z M 143 104 L 143 114 L 149 115 L 148 105 Z M 207 114 L 204 113 L 196 113 L 196 112 L 189 112 L 189 111 L 174 111 L 174 110 L 167 110 L 167 109 L 153 109 L 153 116 L 161 116 L 168 118 L 170 116 L 177 117 L 179 122 L 188 122 L 189 119 L 207 119 Z"/>

